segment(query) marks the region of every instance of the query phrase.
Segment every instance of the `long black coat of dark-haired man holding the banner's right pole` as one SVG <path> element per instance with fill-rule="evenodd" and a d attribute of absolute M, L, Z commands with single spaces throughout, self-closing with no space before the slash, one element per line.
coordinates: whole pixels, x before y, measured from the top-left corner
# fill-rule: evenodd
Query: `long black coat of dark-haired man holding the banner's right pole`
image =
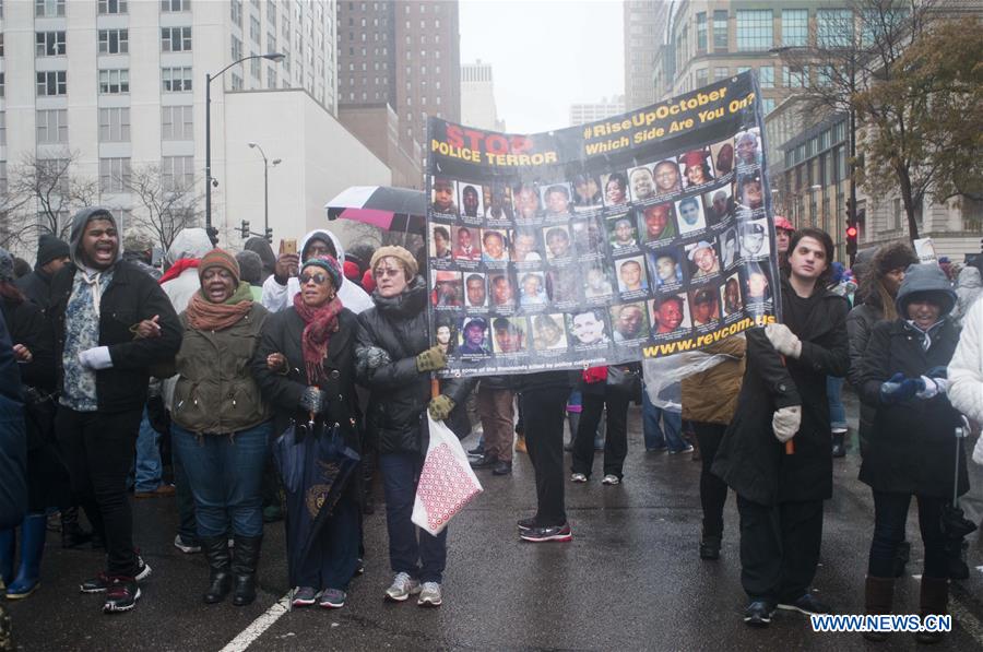
<path fill-rule="evenodd" d="M 792 287 L 782 283 L 786 319 Z M 790 324 L 802 341 L 798 359 L 782 358 L 763 329 L 747 331 L 747 370 L 737 413 L 727 427 L 713 473 L 737 494 L 759 505 L 822 500 L 832 496 L 832 441 L 826 377 L 843 377 L 850 366 L 845 298 L 826 289 L 804 324 Z M 774 436 L 771 418 L 780 407 L 802 405 L 794 454 Z"/>

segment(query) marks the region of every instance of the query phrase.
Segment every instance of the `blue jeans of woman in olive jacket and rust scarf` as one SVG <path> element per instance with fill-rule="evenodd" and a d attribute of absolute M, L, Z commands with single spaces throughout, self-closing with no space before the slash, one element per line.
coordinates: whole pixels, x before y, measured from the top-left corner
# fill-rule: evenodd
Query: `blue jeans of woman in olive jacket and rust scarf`
<path fill-rule="evenodd" d="M 272 422 L 228 435 L 203 435 L 171 424 L 174 447 L 194 495 L 199 536 L 263 533 L 263 464 Z"/>

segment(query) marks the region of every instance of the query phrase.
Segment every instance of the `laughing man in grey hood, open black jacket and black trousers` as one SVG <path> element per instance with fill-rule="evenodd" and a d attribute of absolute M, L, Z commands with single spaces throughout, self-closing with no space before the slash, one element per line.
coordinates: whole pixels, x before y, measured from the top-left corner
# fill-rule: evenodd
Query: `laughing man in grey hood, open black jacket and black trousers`
<path fill-rule="evenodd" d="M 177 313 L 153 278 L 121 260 L 120 233 L 108 209 L 72 218 L 72 265 L 51 281 L 58 389 L 55 428 L 72 488 L 106 543 L 108 566 L 81 586 L 106 593 L 106 613 L 132 609 L 137 582 L 150 574 L 133 546 L 127 477 L 146 403 L 150 368 L 181 345 Z"/>

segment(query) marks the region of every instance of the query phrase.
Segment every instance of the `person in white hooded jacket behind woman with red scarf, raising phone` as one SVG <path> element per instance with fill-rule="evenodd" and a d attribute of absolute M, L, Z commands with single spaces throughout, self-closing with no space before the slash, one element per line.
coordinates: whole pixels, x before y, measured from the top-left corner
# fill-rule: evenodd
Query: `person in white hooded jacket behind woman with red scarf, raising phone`
<path fill-rule="evenodd" d="M 325 229 L 312 230 L 300 240 L 299 257 L 296 253 L 281 253 L 276 259 L 276 270 L 263 283 L 263 307 L 270 312 L 279 312 L 292 306 L 294 297 L 300 292 L 297 280 L 299 264 L 318 256 L 331 256 L 344 269 L 345 250 L 337 236 Z M 374 305 L 365 291 L 347 278 L 342 278 L 337 297 L 345 308 L 356 315 Z"/>

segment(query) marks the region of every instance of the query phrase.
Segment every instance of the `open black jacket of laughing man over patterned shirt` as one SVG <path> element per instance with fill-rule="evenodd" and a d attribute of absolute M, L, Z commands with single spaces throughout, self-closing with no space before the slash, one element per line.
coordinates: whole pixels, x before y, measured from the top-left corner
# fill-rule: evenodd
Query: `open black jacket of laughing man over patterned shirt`
<path fill-rule="evenodd" d="M 51 305 L 47 317 L 55 330 L 55 360 L 58 389 L 64 381 L 61 366 L 64 349 L 64 312 L 72 294 L 76 268 L 66 265 L 51 281 Z M 138 340 L 130 328 L 158 316 L 161 336 Z M 116 263 L 112 280 L 99 303 L 99 345 L 109 347 L 112 368 L 96 371 L 99 412 L 143 410 L 150 368 L 173 365 L 181 347 L 181 322 L 157 282 L 134 265 Z"/>

